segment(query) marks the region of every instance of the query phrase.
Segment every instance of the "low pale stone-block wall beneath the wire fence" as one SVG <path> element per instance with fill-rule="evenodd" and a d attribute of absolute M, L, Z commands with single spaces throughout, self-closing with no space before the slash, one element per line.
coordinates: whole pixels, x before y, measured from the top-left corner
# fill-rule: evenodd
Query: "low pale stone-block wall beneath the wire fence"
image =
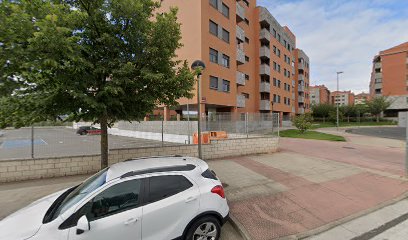
<path fill-rule="evenodd" d="M 278 138 L 248 138 L 212 141 L 203 146 L 204 159 L 241 156 L 276 152 Z M 130 158 L 161 155 L 183 155 L 197 157 L 196 145 L 115 149 L 109 152 L 109 164 Z M 21 159 L 0 161 L 0 183 L 91 174 L 100 169 L 100 156 L 76 156 L 42 159 Z"/>

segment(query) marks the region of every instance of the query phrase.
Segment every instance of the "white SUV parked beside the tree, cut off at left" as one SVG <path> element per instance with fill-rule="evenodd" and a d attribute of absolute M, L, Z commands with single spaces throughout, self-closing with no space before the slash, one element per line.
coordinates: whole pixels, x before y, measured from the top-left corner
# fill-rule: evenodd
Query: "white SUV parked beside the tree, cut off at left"
<path fill-rule="evenodd" d="M 131 159 L 0 222 L 0 239 L 216 240 L 229 207 L 204 161 Z"/>

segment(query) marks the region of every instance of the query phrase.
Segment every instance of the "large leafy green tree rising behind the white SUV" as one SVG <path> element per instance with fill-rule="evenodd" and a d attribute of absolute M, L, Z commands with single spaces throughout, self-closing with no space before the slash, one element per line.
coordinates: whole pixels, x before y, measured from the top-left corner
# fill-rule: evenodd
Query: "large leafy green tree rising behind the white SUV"
<path fill-rule="evenodd" d="M 0 1 L 0 127 L 68 114 L 107 129 L 190 97 L 194 75 L 175 61 L 177 9 L 155 0 Z"/>

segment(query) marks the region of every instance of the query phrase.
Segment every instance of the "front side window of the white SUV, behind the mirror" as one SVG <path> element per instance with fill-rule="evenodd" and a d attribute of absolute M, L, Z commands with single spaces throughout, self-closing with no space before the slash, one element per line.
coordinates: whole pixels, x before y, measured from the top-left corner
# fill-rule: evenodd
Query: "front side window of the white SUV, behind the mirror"
<path fill-rule="evenodd" d="M 89 221 L 123 212 L 140 206 L 141 180 L 118 183 L 93 198 L 86 206 Z"/>

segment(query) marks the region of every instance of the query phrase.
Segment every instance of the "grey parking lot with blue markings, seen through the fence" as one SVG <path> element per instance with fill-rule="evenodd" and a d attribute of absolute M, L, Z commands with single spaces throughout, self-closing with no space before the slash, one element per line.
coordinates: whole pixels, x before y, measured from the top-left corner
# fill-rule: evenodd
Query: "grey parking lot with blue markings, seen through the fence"
<path fill-rule="evenodd" d="M 109 149 L 174 145 L 147 139 L 109 135 Z M 34 157 L 79 156 L 100 153 L 100 135 L 78 135 L 66 127 L 34 129 Z M 0 159 L 31 158 L 31 128 L 4 130 L 0 137 Z"/>

